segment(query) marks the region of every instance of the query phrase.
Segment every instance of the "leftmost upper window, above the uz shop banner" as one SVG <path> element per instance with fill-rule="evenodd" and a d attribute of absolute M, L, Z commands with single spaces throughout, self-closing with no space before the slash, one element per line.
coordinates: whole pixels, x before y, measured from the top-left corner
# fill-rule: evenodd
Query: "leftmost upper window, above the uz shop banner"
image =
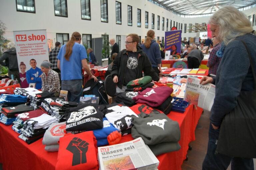
<path fill-rule="evenodd" d="M 35 0 L 16 0 L 16 10 L 36 13 Z"/>

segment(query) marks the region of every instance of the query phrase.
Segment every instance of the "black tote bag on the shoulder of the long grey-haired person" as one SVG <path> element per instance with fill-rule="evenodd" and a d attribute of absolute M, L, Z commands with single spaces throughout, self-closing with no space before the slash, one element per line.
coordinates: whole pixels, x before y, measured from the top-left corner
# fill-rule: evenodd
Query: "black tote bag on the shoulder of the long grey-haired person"
<path fill-rule="evenodd" d="M 215 153 L 256 158 L 256 76 L 250 51 L 244 41 L 239 41 L 243 42 L 249 55 L 254 91 L 241 91 L 236 107 L 224 117 Z"/>

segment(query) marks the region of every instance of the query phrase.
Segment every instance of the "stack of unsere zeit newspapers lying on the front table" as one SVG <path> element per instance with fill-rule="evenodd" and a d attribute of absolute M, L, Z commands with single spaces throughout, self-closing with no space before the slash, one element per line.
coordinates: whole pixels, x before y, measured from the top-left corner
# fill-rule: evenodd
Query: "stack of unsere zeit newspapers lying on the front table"
<path fill-rule="evenodd" d="M 100 170 L 155 170 L 159 161 L 141 137 L 132 141 L 98 147 Z"/>

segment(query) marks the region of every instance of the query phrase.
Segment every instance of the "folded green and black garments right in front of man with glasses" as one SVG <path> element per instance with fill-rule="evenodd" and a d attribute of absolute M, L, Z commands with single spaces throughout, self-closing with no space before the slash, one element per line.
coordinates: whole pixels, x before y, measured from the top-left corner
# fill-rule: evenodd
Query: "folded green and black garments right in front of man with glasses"
<path fill-rule="evenodd" d="M 149 83 L 152 81 L 152 78 L 150 76 L 144 76 L 136 80 L 132 80 L 129 83 L 127 83 L 127 91 L 140 91 L 142 89 L 146 89 L 147 87 L 150 87 Z M 152 86 L 151 86 L 152 87 Z"/>

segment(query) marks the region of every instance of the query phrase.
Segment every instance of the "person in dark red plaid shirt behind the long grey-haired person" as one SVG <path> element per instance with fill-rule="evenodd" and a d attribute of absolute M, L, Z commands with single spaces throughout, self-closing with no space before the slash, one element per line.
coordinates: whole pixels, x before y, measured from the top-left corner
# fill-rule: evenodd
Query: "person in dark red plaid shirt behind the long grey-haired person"
<path fill-rule="evenodd" d="M 216 55 L 216 52 L 220 49 L 220 43 L 217 42 L 216 39 L 213 40 L 213 44 L 215 45 L 212 52 L 210 53 L 207 67 L 209 67 L 209 75 L 216 77 L 216 72 L 219 67 L 221 58 Z"/>

